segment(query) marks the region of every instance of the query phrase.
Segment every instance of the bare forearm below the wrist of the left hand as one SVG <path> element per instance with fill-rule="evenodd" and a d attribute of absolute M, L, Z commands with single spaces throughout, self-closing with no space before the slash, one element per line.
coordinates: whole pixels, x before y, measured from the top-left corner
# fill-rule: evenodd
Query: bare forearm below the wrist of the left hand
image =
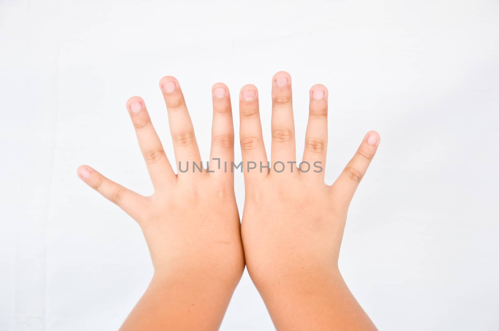
<path fill-rule="evenodd" d="M 218 330 L 237 281 L 155 275 L 121 331 Z"/>

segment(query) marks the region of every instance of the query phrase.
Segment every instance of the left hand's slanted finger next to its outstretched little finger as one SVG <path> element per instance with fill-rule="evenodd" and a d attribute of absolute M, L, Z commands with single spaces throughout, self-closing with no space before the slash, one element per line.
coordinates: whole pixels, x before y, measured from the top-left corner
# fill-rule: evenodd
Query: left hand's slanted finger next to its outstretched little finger
<path fill-rule="evenodd" d="M 163 145 L 156 130 L 154 130 L 144 100 L 140 97 L 131 97 L 128 99 L 126 107 L 135 127 L 140 151 L 146 161 L 154 190 L 161 191 L 165 189 L 165 184 L 175 182 L 175 172 L 173 172 Z"/>

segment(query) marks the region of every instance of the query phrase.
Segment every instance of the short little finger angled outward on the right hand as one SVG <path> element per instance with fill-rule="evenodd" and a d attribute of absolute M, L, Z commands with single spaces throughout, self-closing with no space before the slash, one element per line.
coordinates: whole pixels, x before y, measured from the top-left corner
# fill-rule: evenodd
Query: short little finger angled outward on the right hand
<path fill-rule="evenodd" d="M 338 193 L 336 196 L 341 199 L 339 202 L 347 205 L 350 203 L 357 186 L 359 186 L 362 177 L 364 177 L 367 171 L 367 167 L 376 154 L 379 142 L 380 137 L 376 131 L 368 132 L 362 144 L 360 144 L 357 153 L 355 153 L 352 160 L 345 166 L 333 183 L 332 189 Z"/>

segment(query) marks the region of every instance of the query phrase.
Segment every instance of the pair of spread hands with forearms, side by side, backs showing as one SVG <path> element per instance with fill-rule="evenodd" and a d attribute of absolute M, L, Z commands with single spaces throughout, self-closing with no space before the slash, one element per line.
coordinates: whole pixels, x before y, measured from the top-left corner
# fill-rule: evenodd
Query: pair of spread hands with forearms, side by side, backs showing
<path fill-rule="evenodd" d="M 218 329 L 245 265 L 278 330 L 375 329 L 345 285 L 337 261 L 348 206 L 376 153 L 379 135 L 367 133 L 338 179 L 326 185 L 328 92 L 314 85 L 303 153 L 311 168 L 300 171 L 299 162 L 293 163 L 291 77 L 278 72 L 272 79 L 271 162 L 268 172 L 260 171 L 267 156 L 258 91 L 245 85 L 239 94 L 246 187 L 240 222 L 231 171 L 234 125 L 228 87 L 217 83 L 212 88 L 210 167 L 194 172 L 193 163 L 199 165 L 201 156 L 179 82 L 166 76 L 160 88 L 176 165 L 184 170 L 189 164 L 187 172 L 173 171 L 140 97 L 130 98 L 126 107 L 154 194 L 142 196 L 87 165 L 78 168 L 83 181 L 138 222 L 149 246 L 154 276 L 122 330 Z M 322 171 L 314 171 L 316 162 Z M 248 170 L 249 163 L 256 168 Z M 306 164 L 301 168 L 306 170 Z"/>

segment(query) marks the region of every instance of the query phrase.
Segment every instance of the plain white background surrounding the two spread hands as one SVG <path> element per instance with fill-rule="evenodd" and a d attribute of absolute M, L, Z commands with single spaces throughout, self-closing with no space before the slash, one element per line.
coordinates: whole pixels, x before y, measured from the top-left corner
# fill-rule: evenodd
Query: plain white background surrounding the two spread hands
<path fill-rule="evenodd" d="M 158 82 L 176 76 L 206 160 L 212 84 L 236 119 L 239 89 L 259 88 L 269 147 L 279 70 L 299 158 L 308 90 L 329 89 L 328 183 L 381 135 L 340 256 L 378 328 L 499 330 L 497 0 L 1 0 L 0 28 L 0 330 L 116 330 L 145 290 L 139 227 L 76 176 L 152 193 L 128 97 L 173 157 Z M 241 174 L 236 194 L 242 211 Z M 247 273 L 221 329 L 273 330 Z"/>

